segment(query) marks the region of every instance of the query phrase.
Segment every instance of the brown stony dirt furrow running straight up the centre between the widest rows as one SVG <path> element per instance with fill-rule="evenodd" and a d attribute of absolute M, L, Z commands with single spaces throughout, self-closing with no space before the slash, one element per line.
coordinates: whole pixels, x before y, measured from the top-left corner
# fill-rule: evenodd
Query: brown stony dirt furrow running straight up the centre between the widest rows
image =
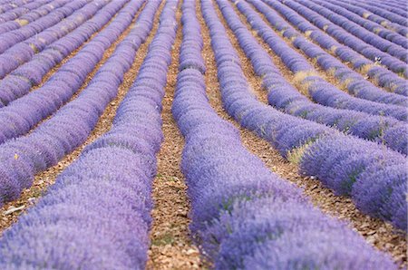
<path fill-rule="evenodd" d="M 182 41 L 180 5 L 177 12 L 179 29 L 171 53 L 172 61 L 162 103 L 164 141 L 157 157 L 158 174 L 153 182 L 153 227 L 148 269 L 197 269 L 200 266 L 199 250 L 189 237 L 189 199 L 180 171 L 184 139 L 171 115 Z"/>

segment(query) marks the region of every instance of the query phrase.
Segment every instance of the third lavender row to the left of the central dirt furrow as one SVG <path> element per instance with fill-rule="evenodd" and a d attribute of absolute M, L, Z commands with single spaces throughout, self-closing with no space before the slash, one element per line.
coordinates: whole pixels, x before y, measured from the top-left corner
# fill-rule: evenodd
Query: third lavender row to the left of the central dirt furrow
<path fill-rule="evenodd" d="M 69 101 L 102 60 L 103 53 L 130 23 L 118 21 L 107 25 L 69 61 L 63 63 L 42 87 L 0 108 L 0 124 L 3 127 L 0 130 L 0 143 L 24 135 Z"/>

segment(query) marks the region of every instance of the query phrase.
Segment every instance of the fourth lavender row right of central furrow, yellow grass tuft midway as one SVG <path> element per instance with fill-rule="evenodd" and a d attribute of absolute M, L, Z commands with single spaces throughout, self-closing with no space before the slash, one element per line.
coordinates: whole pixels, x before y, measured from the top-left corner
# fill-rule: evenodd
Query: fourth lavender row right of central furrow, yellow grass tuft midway
<path fill-rule="evenodd" d="M 259 4 L 257 1 L 252 3 Z M 337 89 L 333 84 L 326 82 L 316 72 L 314 66 L 303 55 L 292 49 L 257 13 L 252 9 L 249 9 L 247 12 L 251 13 L 248 23 L 251 24 L 252 28 L 257 31 L 257 34 L 264 39 L 274 53 L 281 58 L 287 68 L 295 74 L 296 82 L 301 85 L 302 90 L 313 101 L 336 109 L 363 111 L 372 115 L 393 117 L 400 121 L 408 120 L 406 107 L 356 98 Z M 380 90 L 378 91 L 381 92 Z M 398 95 L 395 96 L 398 97 Z"/>

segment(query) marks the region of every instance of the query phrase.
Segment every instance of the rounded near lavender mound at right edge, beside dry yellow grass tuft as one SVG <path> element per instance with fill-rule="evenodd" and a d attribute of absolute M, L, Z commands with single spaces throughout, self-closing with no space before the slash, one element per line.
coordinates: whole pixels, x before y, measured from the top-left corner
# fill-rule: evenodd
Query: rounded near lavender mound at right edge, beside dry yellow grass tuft
<path fill-rule="evenodd" d="M 301 172 L 316 176 L 336 195 L 353 198 L 365 214 L 406 231 L 406 163 L 406 158 L 374 148 L 369 141 L 333 136 L 311 144 L 299 166 Z"/>

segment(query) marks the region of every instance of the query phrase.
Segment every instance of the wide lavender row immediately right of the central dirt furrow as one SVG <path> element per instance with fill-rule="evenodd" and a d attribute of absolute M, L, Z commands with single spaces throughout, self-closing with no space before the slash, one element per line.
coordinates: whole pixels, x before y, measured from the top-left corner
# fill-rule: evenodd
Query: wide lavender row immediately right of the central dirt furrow
<path fill-rule="evenodd" d="M 217 24 L 211 2 L 201 1 L 201 8 L 211 43 L 225 55 L 219 71 L 233 68 L 228 66 L 235 60 L 233 48 L 219 40 L 226 33 L 222 24 Z M 278 178 L 243 147 L 238 130 L 221 120 L 209 105 L 194 2 L 184 1 L 182 23 L 180 73 L 172 113 L 186 139 L 181 169 L 191 201 L 190 228 L 210 266 L 394 269 L 388 256 L 313 207 L 298 188 Z"/>

